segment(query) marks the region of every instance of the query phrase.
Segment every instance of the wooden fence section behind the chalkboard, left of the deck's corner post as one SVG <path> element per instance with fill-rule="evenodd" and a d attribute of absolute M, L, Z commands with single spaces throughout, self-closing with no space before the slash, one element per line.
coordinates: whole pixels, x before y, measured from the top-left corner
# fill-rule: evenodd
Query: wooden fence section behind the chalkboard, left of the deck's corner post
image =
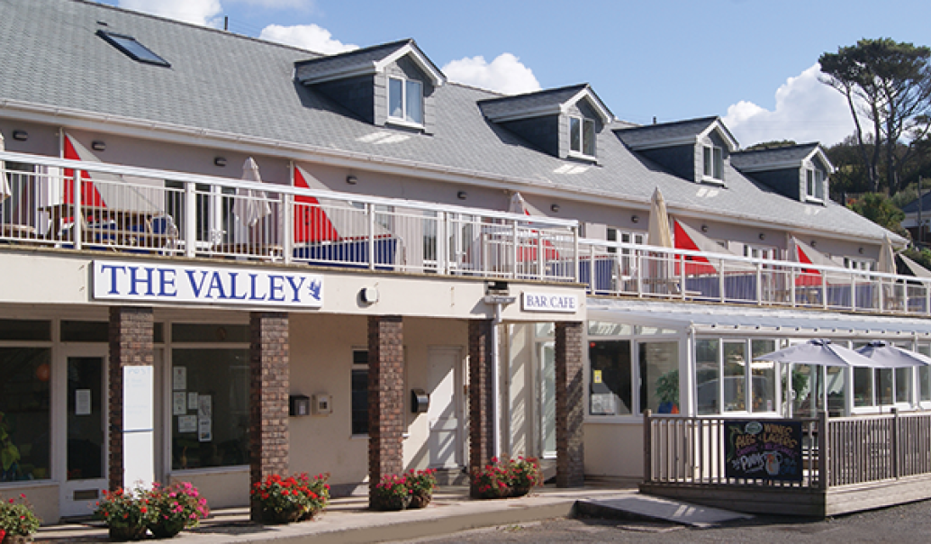
<path fill-rule="evenodd" d="M 643 418 L 643 481 L 654 485 L 735 485 L 822 488 L 819 453 L 823 420 L 797 418 L 802 424 L 801 480 L 728 478 L 727 429 L 735 417 L 651 415 Z M 747 419 L 747 421 L 751 421 Z M 760 420 L 757 420 L 760 421 Z M 786 421 L 786 420 L 779 420 Z"/>

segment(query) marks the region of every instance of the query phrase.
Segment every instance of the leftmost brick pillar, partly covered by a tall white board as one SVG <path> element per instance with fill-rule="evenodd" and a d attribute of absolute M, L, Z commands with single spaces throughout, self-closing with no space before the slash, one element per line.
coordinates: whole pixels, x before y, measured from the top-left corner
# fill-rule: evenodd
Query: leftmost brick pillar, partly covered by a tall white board
<path fill-rule="evenodd" d="M 151 307 L 110 306 L 110 469 L 111 490 L 123 487 L 123 367 L 155 363 Z M 155 401 L 155 399 L 153 399 Z"/>

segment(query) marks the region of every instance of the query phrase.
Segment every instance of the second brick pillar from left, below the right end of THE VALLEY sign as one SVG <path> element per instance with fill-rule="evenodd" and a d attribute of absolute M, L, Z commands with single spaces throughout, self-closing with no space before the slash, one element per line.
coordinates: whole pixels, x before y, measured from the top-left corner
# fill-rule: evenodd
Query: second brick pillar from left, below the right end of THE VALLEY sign
<path fill-rule="evenodd" d="M 290 344 L 287 313 L 251 312 L 249 325 L 251 484 L 288 471 Z M 260 519 L 257 507 L 252 503 L 252 521 Z"/>

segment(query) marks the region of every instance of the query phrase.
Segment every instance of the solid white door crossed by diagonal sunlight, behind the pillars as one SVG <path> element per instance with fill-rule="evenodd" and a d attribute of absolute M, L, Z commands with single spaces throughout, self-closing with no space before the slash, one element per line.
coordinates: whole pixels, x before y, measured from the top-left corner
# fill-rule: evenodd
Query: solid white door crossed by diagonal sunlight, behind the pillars
<path fill-rule="evenodd" d="M 455 347 L 430 347 L 427 353 L 426 410 L 430 467 L 462 466 L 462 356 Z"/>

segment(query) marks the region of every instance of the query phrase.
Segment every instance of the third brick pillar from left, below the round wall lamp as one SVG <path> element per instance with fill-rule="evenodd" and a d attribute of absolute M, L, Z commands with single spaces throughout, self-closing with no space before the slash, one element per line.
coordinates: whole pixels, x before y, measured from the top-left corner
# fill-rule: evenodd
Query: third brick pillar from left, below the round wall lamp
<path fill-rule="evenodd" d="M 404 326 L 369 317 L 369 501 L 385 474 L 404 470 Z"/>

